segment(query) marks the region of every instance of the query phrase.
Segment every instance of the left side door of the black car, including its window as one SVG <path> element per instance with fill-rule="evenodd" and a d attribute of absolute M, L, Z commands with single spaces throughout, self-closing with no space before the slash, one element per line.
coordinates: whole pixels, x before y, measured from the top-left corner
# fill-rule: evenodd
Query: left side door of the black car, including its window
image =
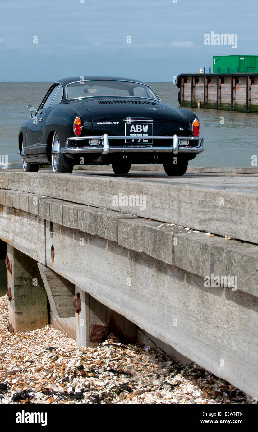
<path fill-rule="evenodd" d="M 42 136 L 42 124 L 45 121 L 47 108 L 51 106 L 59 86 L 60 84 L 51 86 L 35 115 L 29 120 L 24 151 L 30 162 L 38 162 L 38 146 Z"/>

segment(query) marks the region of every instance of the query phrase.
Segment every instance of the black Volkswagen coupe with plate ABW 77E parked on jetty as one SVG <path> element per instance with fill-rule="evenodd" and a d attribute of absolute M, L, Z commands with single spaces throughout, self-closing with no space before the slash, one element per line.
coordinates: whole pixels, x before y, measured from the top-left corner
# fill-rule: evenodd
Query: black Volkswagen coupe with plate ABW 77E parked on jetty
<path fill-rule="evenodd" d="M 51 164 L 54 172 L 71 173 L 73 165 L 111 164 L 115 174 L 127 174 L 132 163 L 158 163 L 168 175 L 183 175 L 204 150 L 196 115 L 163 104 L 134 79 L 61 79 L 37 110 L 27 109 L 31 117 L 19 130 L 24 171 Z"/>

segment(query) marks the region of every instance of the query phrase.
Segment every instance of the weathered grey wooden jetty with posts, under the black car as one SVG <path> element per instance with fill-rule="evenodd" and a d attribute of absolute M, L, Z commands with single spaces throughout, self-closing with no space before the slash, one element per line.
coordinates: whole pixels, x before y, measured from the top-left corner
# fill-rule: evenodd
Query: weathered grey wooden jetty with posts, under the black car
<path fill-rule="evenodd" d="M 117 335 L 258 397 L 257 213 L 257 174 L 2 170 L 9 329 Z"/>

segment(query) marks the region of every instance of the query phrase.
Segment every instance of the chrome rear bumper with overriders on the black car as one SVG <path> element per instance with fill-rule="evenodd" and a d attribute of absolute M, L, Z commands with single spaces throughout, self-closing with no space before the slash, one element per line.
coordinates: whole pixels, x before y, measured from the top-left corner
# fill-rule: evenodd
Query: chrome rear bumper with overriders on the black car
<path fill-rule="evenodd" d="M 65 148 L 61 148 L 59 151 L 64 154 L 80 154 L 80 153 L 102 153 L 102 155 L 107 155 L 108 153 L 117 153 L 117 152 L 173 152 L 174 155 L 176 155 L 178 152 L 192 152 L 192 153 L 201 153 L 204 151 L 203 143 L 204 139 L 199 137 L 178 137 L 177 135 L 174 135 L 173 137 L 146 137 L 148 140 L 167 140 L 170 141 L 169 146 L 164 147 L 157 147 L 153 144 L 125 144 L 124 146 L 109 146 L 109 140 L 129 140 L 132 139 L 132 137 L 121 137 L 121 136 L 108 136 L 107 133 L 104 133 L 102 136 L 99 137 L 71 137 L 67 138 L 65 143 Z M 134 138 L 138 139 L 138 137 Z M 69 143 L 72 141 L 89 141 L 89 140 L 100 140 L 99 145 L 89 145 L 87 147 L 70 147 Z M 194 146 L 186 146 L 183 144 L 180 144 L 180 141 L 192 141 L 192 140 L 198 140 L 199 145 Z"/>

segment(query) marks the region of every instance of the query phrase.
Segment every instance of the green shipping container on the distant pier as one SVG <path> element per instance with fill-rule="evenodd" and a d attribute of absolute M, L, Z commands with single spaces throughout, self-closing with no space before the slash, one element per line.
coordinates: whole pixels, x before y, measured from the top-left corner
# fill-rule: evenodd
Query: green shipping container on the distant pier
<path fill-rule="evenodd" d="M 213 73 L 218 73 L 218 72 L 221 73 L 258 72 L 258 56 L 257 55 L 213 56 Z"/>

